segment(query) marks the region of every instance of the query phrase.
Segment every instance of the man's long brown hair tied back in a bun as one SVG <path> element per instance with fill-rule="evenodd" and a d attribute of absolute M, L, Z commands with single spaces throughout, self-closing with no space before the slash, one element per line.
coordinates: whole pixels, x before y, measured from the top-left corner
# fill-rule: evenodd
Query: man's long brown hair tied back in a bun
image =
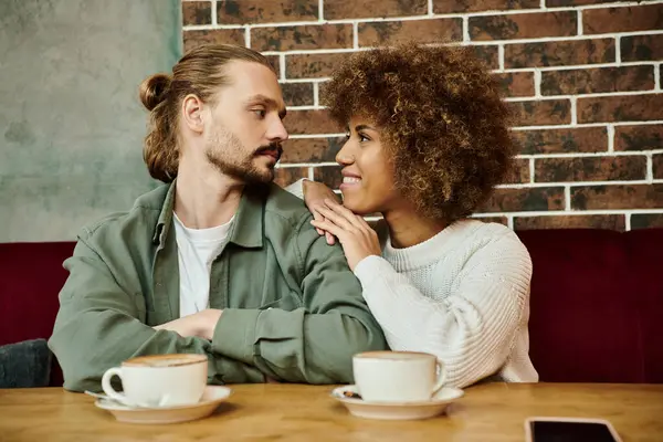
<path fill-rule="evenodd" d="M 264 55 L 250 49 L 204 44 L 182 56 L 172 67 L 172 74 L 155 74 L 140 84 L 140 102 L 150 112 L 143 158 L 152 178 L 171 182 L 177 177 L 182 99 L 194 94 L 203 103 L 211 103 L 219 87 L 229 83 L 223 66 L 235 60 L 260 63 L 273 71 Z"/>

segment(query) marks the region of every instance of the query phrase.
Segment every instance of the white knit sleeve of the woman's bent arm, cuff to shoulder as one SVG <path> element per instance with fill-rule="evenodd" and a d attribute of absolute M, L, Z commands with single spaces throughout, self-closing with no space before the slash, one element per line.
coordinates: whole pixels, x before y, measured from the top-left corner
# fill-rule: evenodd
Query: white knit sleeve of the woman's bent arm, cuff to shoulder
<path fill-rule="evenodd" d="M 501 236 L 472 254 L 440 301 L 424 296 L 379 256 L 362 260 L 355 274 L 390 347 L 438 356 L 446 383 L 462 388 L 505 364 L 527 307 L 532 261 L 517 239 Z"/>

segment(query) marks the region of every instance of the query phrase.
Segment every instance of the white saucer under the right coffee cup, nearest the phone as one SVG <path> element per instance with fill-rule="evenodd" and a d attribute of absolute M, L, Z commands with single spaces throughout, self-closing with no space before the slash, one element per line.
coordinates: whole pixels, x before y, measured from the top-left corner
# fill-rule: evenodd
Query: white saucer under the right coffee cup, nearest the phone
<path fill-rule="evenodd" d="M 382 420 L 414 420 L 429 419 L 441 414 L 453 401 L 463 397 L 463 390 L 442 388 L 429 401 L 423 402 L 368 402 L 358 398 L 348 398 L 344 392 L 357 394 L 356 386 L 338 387 L 332 391 L 332 397 L 341 402 L 358 418 Z"/>

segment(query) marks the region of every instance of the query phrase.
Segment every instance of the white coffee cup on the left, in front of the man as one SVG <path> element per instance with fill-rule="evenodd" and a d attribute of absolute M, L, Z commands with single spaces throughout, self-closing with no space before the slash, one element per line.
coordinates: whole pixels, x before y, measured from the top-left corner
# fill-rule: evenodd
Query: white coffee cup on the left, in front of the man
<path fill-rule="evenodd" d="M 207 355 L 152 355 L 127 359 L 106 370 L 102 388 L 112 399 L 129 407 L 175 407 L 198 403 L 207 386 Z M 124 393 L 110 379 L 122 380 Z"/>

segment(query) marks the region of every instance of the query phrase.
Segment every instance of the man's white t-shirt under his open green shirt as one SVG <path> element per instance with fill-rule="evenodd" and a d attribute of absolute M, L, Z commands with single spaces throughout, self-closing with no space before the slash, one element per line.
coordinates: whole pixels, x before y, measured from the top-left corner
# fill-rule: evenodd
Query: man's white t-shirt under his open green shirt
<path fill-rule="evenodd" d="M 210 229 L 189 229 L 177 214 L 175 238 L 180 277 L 180 317 L 192 315 L 210 303 L 210 272 L 228 238 L 234 215 L 225 224 Z"/>

